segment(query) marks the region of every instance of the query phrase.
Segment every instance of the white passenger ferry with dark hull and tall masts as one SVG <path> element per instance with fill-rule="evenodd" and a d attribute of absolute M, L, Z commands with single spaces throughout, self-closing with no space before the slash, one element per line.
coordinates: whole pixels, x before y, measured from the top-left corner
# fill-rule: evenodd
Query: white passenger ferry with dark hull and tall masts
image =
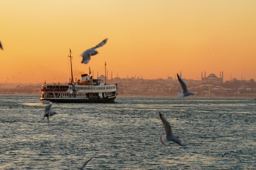
<path fill-rule="evenodd" d="M 40 101 L 50 101 L 59 103 L 106 103 L 114 102 L 117 97 L 117 84 L 103 83 L 102 79 L 93 79 L 90 75 L 82 74 L 81 79 L 74 82 L 70 49 L 71 81 L 68 84 L 42 85 Z M 106 77 L 106 62 L 105 62 Z"/>

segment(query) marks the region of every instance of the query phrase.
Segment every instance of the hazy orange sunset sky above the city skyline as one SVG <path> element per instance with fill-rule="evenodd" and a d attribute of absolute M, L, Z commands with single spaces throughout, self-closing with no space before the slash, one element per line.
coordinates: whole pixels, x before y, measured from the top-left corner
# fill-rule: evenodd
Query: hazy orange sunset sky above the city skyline
<path fill-rule="evenodd" d="M 256 79 L 255 0 L 0 0 L 0 83 L 70 77 Z M 108 38 L 81 64 L 79 55 Z M 21 72 L 21 73 L 18 73 Z M 14 78 L 12 78 L 14 77 Z M 9 78 L 9 79 L 7 79 Z"/>

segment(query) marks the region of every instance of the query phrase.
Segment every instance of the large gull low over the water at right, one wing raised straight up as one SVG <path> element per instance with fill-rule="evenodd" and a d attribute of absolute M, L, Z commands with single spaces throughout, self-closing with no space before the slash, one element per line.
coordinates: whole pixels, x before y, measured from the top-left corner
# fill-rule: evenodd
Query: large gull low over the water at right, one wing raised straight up
<path fill-rule="evenodd" d="M 173 135 L 173 132 L 171 131 L 171 125 L 165 119 L 164 115 L 162 115 L 162 113 L 159 113 L 159 116 L 164 124 L 164 130 L 166 133 L 166 135 L 161 135 L 160 137 L 162 144 L 168 145 L 170 141 L 174 141 L 180 146 L 184 146 L 183 142 L 179 139 L 179 136 Z"/>

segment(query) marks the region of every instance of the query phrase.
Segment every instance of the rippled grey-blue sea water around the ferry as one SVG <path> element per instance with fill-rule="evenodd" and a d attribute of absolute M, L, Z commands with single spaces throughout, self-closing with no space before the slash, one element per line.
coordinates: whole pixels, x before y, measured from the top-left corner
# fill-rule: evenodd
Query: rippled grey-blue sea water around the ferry
<path fill-rule="evenodd" d="M 0 95 L 0 169 L 255 170 L 256 100 L 124 97 L 111 104 L 53 105 L 38 95 Z M 185 147 L 162 145 L 163 113 Z M 55 130 L 62 128 L 65 133 Z M 236 158 L 221 157 L 225 152 Z"/>

